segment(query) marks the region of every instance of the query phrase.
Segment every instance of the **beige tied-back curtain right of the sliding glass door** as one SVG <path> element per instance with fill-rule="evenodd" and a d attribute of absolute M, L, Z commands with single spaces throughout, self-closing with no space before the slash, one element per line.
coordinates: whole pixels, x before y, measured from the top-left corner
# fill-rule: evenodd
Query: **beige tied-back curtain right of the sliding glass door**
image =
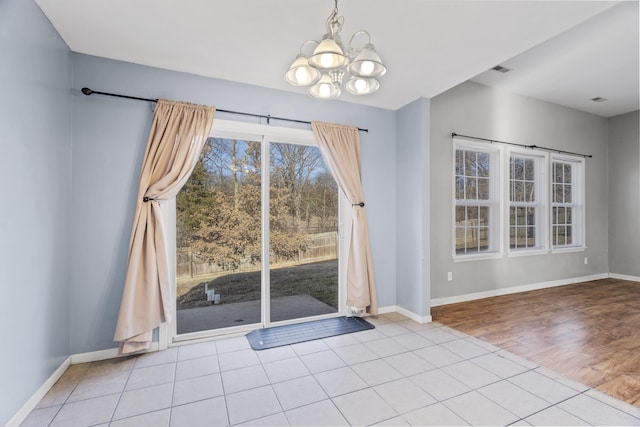
<path fill-rule="evenodd" d="M 347 305 L 359 312 L 378 314 L 376 284 L 369 244 L 367 211 L 360 173 L 360 135 L 351 126 L 313 122 L 313 134 L 333 178 L 351 202 L 351 244 L 347 264 Z"/>

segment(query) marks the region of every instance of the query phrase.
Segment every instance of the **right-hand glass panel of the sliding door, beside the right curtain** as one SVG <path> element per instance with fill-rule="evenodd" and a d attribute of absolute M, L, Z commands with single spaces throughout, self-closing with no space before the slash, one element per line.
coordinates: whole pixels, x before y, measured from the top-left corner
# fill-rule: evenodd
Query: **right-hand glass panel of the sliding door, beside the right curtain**
<path fill-rule="evenodd" d="M 318 147 L 270 144 L 271 321 L 338 311 L 338 188 Z"/>

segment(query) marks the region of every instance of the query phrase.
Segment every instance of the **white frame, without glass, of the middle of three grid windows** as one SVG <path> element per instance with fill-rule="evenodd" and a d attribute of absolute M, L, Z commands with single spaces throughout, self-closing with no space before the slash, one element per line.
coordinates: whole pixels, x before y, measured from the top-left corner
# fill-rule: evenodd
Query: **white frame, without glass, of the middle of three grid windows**
<path fill-rule="evenodd" d="M 534 202 L 514 202 L 511 201 L 511 158 L 519 157 L 525 159 L 531 159 L 534 161 Z M 548 206 L 548 165 L 549 155 L 548 153 L 525 150 L 519 148 L 509 148 L 507 155 L 505 156 L 504 174 L 505 177 L 505 248 L 507 249 L 507 255 L 510 257 L 515 256 L 527 256 L 527 255 L 540 255 L 549 253 L 549 216 L 547 214 Z M 525 248 L 512 248 L 511 247 L 511 207 L 533 207 L 536 209 L 535 213 L 535 240 L 536 245 Z"/>

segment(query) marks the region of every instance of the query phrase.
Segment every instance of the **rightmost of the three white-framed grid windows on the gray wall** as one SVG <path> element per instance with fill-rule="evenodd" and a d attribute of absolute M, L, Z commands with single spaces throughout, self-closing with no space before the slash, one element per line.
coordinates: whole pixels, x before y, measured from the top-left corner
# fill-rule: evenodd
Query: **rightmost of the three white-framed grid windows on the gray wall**
<path fill-rule="evenodd" d="M 551 161 L 551 244 L 554 249 L 583 245 L 584 160 Z"/>

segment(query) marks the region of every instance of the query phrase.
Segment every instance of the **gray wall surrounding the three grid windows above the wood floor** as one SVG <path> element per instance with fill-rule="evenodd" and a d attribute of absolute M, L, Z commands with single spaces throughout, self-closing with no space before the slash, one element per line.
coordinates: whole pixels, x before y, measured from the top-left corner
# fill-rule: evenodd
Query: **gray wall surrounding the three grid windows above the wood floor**
<path fill-rule="evenodd" d="M 586 251 L 454 263 L 452 132 L 592 154 L 593 158 L 586 161 Z M 605 118 L 473 82 L 433 98 L 431 297 L 452 297 L 607 273 L 607 164 Z M 588 265 L 584 264 L 584 257 L 588 257 Z M 447 272 L 453 273 L 450 282 Z"/>

